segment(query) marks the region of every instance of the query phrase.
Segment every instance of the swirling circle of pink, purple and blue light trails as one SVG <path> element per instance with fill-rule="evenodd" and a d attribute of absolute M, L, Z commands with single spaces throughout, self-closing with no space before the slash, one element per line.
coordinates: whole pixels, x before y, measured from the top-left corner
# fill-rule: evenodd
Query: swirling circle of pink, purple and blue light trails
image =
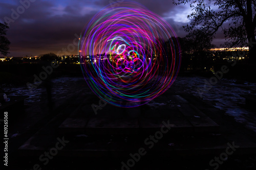
<path fill-rule="evenodd" d="M 98 12 L 83 31 L 79 54 L 92 91 L 119 107 L 140 106 L 161 95 L 175 81 L 181 61 L 173 29 L 134 2 Z"/>

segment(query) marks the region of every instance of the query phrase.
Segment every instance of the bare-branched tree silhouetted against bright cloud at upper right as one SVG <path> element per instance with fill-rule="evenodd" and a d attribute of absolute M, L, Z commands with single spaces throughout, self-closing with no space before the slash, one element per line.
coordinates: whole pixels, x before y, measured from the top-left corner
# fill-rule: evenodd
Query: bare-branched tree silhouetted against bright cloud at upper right
<path fill-rule="evenodd" d="M 185 28 L 190 34 L 198 30 L 214 37 L 221 29 L 228 40 L 226 47 L 249 46 L 249 59 L 256 61 L 256 1 L 223 0 L 194 1 L 174 0 L 175 5 L 189 4 L 193 12 L 188 18 L 193 18 Z M 228 28 L 223 27 L 227 23 Z"/>

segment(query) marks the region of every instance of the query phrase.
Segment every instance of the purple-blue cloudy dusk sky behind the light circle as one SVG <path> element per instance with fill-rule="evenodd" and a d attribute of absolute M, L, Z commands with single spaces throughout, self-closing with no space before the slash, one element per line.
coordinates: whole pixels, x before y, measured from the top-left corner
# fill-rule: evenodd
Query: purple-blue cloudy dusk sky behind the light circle
<path fill-rule="evenodd" d="M 50 52 L 57 54 L 73 43 L 75 34 L 79 35 L 99 10 L 110 2 L 118 1 L 0 0 L 0 22 L 8 21 L 10 26 L 7 32 L 11 41 L 8 56 L 37 56 Z M 189 6 L 175 6 L 172 0 L 135 1 L 162 16 L 178 36 L 186 35 L 182 26 L 190 22 L 187 19 L 191 13 Z M 213 43 L 219 45 L 221 41 L 219 33 Z M 77 54 L 76 50 L 69 52 Z"/>

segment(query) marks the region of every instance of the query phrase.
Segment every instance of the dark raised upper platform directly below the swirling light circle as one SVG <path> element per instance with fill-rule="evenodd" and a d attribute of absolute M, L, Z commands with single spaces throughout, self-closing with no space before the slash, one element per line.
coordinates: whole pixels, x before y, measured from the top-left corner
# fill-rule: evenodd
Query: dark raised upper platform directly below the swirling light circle
<path fill-rule="evenodd" d="M 180 95 L 170 96 L 170 99 L 176 101 L 176 104 L 173 102 L 156 109 L 143 106 L 137 108 L 141 112 L 138 112 L 135 118 L 129 117 L 134 108 L 125 109 L 126 113 L 120 112 L 119 114 L 123 114 L 122 117 L 108 116 L 108 113 L 99 113 L 98 116 L 92 117 L 75 117 L 73 114 L 58 127 L 58 131 L 63 135 L 79 133 L 88 135 L 152 134 L 161 128 L 163 121 L 169 121 L 174 125 L 170 130 L 173 133 L 219 132 L 218 124 Z M 115 112 L 114 108 L 112 109 Z"/>

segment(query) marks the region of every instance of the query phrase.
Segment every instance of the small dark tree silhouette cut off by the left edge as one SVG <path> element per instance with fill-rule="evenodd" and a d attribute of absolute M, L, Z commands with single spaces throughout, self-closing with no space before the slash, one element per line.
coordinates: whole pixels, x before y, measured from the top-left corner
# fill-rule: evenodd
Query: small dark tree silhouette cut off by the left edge
<path fill-rule="evenodd" d="M 6 38 L 6 29 L 9 29 L 7 23 L 0 22 L 0 53 L 6 56 L 9 52 L 10 41 Z"/>

